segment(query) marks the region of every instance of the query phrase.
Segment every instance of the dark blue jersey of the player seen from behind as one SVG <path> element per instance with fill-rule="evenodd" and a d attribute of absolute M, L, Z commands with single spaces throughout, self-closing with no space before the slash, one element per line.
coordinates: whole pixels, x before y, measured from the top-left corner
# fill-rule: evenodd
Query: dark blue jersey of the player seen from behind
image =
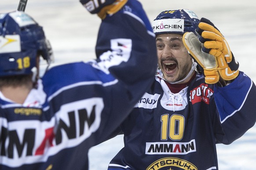
<path fill-rule="evenodd" d="M 154 81 L 154 33 L 133 0 L 101 23 L 97 60 L 52 67 L 25 103 L 0 92 L 0 169 L 86 170 Z"/>

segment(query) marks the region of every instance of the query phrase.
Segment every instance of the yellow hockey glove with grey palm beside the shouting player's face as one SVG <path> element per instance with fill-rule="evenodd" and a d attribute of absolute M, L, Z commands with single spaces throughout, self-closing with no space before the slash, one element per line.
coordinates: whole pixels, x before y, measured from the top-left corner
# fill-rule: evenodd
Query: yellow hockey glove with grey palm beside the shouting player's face
<path fill-rule="evenodd" d="M 198 62 L 198 64 L 201 65 L 201 67 L 203 67 L 206 83 L 214 84 L 218 82 L 219 75 L 223 80 L 233 80 L 239 74 L 239 64 L 234 59 L 234 56 L 230 50 L 230 47 L 227 44 L 226 39 L 219 32 L 219 30 L 212 24 L 211 21 L 209 21 L 206 18 L 201 18 L 200 21 L 201 22 L 199 23 L 196 32 L 198 34 L 199 42 L 201 43 L 200 50 L 202 56 L 199 57 L 198 52 L 195 52 L 198 51 L 198 49 L 194 50 L 192 48 L 194 46 L 191 44 L 192 42 L 188 43 L 188 41 L 191 41 L 191 39 L 193 39 L 193 42 L 195 42 L 195 39 L 192 38 L 192 34 L 186 35 L 187 38 L 184 35 L 184 39 L 187 40 L 184 40 L 183 43 L 186 46 L 187 42 L 187 50 Z M 198 45 L 196 46 L 197 48 L 199 47 Z M 206 64 L 208 62 L 212 64 Z"/>

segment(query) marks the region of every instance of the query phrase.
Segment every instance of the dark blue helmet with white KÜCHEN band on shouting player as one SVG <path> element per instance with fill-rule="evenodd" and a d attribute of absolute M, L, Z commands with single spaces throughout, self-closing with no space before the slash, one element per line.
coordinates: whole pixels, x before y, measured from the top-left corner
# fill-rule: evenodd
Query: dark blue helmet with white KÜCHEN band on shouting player
<path fill-rule="evenodd" d="M 161 12 L 152 22 L 154 33 L 157 34 L 184 34 L 194 32 L 199 24 L 197 15 L 188 9 L 169 10 Z"/>

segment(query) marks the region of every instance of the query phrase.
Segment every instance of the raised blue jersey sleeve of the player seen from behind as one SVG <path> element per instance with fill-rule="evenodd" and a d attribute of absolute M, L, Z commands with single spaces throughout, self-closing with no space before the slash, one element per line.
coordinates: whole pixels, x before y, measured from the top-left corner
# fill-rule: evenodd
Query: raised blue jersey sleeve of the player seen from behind
<path fill-rule="evenodd" d="M 128 1 L 121 11 L 102 20 L 95 50 L 92 67 L 114 78 L 102 91 L 104 109 L 95 133 L 101 140 L 109 138 L 154 81 L 155 35 L 138 1 Z"/>

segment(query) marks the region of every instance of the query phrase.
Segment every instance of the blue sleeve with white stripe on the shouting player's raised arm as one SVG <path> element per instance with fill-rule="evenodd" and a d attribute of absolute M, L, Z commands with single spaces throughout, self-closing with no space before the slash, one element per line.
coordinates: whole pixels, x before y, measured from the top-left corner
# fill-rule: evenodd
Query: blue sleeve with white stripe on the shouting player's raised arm
<path fill-rule="evenodd" d="M 230 144 L 240 138 L 256 122 L 256 86 L 242 71 L 223 88 L 215 85 L 214 98 L 223 133 L 218 133 L 219 142 Z"/>

